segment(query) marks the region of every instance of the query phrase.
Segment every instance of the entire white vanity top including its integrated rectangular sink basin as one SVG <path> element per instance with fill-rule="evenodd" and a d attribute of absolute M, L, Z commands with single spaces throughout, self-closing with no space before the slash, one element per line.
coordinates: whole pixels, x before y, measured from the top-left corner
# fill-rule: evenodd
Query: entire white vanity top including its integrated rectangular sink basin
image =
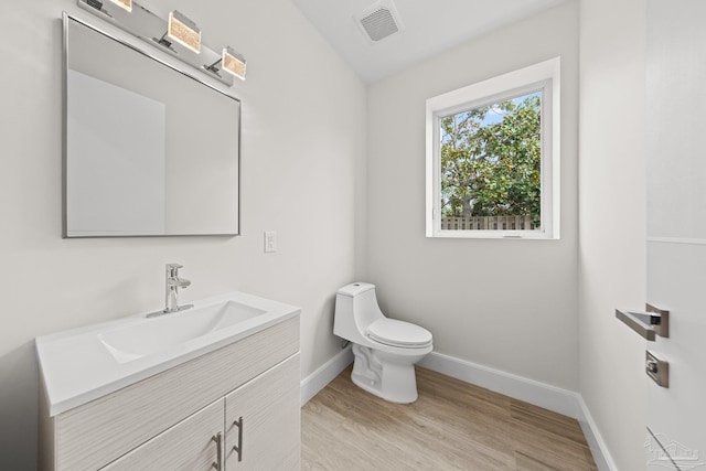
<path fill-rule="evenodd" d="M 243 292 L 153 318 L 130 315 L 36 338 L 51 416 L 265 330 L 301 311 Z"/>

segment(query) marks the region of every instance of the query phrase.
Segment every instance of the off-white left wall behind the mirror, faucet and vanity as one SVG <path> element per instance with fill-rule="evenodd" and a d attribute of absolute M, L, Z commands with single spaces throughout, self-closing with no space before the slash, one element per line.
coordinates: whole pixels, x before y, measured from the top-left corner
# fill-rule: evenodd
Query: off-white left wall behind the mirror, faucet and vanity
<path fill-rule="evenodd" d="M 193 282 L 183 301 L 243 290 L 301 306 L 302 376 L 340 351 L 333 295 L 362 267 L 365 87 L 289 0 L 142 3 L 185 12 L 206 43 L 248 58 L 233 88 L 243 235 L 62 239 L 60 19 L 87 14 L 73 0 L 1 2 L 2 470 L 35 467 L 34 336 L 160 308 L 165 263 Z M 265 229 L 277 231 L 278 253 L 263 253 Z"/>

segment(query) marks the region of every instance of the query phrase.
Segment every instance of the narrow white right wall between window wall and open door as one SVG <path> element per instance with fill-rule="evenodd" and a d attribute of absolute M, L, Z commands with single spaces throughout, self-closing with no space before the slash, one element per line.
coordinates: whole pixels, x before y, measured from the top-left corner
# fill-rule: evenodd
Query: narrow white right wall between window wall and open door
<path fill-rule="evenodd" d="M 580 10 L 580 392 L 620 470 L 644 469 L 644 0 Z"/>

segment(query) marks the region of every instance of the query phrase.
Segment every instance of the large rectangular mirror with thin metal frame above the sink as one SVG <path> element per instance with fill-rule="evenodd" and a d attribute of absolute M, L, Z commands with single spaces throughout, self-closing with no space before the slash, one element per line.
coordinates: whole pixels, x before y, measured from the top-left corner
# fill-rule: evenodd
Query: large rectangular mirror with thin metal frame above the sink
<path fill-rule="evenodd" d="M 64 237 L 237 235 L 240 101 L 64 14 Z"/>

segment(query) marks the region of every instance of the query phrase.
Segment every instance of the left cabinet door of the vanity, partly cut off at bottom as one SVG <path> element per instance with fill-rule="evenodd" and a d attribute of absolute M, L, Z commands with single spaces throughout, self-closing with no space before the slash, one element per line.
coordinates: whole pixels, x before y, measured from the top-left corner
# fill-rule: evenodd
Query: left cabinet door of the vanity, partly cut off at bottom
<path fill-rule="evenodd" d="M 213 471 L 223 469 L 224 400 L 180 421 L 145 445 L 103 468 L 103 471 Z"/>

